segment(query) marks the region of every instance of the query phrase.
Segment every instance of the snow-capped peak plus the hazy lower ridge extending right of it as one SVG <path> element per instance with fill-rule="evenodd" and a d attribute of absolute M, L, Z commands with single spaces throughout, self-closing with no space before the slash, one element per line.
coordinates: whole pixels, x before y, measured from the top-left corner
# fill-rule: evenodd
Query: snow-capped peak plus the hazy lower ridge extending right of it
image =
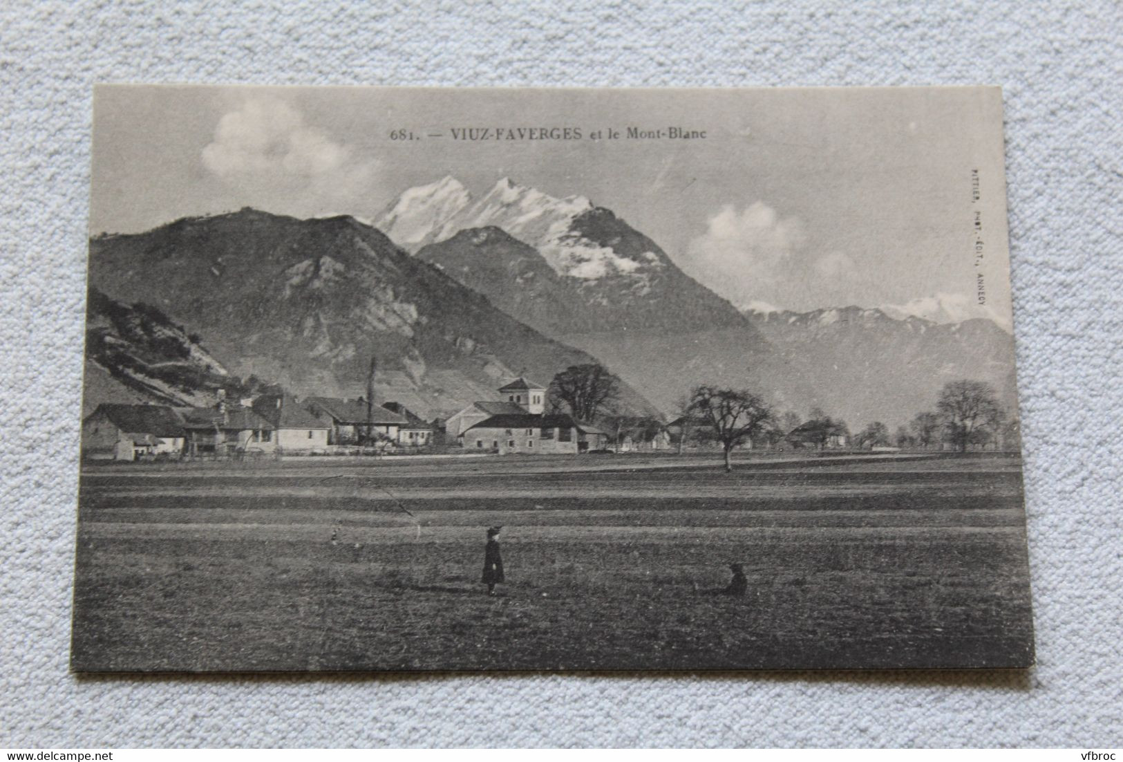
<path fill-rule="evenodd" d="M 667 415 L 697 383 L 856 425 L 903 424 L 957 378 L 1014 398 L 1010 335 L 956 321 L 948 294 L 884 310 L 737 310 L 611 210 L 505 178 L 480 199 L 453 178 L 410 189 L 376 225 L 512 317 L 603 359 Z"/>

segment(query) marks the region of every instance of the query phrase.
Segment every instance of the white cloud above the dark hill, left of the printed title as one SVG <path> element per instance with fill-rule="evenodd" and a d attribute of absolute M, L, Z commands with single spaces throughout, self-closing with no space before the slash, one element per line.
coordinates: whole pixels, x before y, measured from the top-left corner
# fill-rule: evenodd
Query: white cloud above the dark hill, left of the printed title
<path fill-rule="evenodd" d="M 203 165 L 228 184 L 283 194 L 301 190 L 340 199 L 368 183 L 374 162 L 304 121 L 279 98 L 252 98 L 219 119 Z"/>

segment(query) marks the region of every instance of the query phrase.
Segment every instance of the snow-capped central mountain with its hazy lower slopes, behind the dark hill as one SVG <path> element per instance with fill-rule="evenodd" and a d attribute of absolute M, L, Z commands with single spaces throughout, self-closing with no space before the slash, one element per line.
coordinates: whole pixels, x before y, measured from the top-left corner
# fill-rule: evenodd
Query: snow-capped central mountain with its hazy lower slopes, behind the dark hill
<path fill-rule="evenodd" d="M 654 241 L 584 197 L 446 178 L 375 225 L 518 320 L 603 359 L 661 411 L 697 383 L 743 385 L 767 342 Z"/>

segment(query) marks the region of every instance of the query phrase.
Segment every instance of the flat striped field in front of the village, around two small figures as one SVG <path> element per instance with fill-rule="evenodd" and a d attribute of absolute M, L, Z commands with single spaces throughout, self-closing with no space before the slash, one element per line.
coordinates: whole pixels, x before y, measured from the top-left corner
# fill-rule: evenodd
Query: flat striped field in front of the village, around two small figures
<path fill-rule="evenodd" d="M 716 461 L 91 466 L 73 668 L 1032 663 L 1017 459 Z M 731 562 L 743 598 L 714 595 Z"/>

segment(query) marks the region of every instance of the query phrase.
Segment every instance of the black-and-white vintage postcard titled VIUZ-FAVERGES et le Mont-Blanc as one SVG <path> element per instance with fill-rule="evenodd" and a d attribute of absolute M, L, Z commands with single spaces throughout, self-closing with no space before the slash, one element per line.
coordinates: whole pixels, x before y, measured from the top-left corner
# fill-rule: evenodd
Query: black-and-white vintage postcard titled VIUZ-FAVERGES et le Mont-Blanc
<path fill-rule="evenodd" d="M 1002 125 L 98 88 L 72 669 L 1031 665 Z"/>

